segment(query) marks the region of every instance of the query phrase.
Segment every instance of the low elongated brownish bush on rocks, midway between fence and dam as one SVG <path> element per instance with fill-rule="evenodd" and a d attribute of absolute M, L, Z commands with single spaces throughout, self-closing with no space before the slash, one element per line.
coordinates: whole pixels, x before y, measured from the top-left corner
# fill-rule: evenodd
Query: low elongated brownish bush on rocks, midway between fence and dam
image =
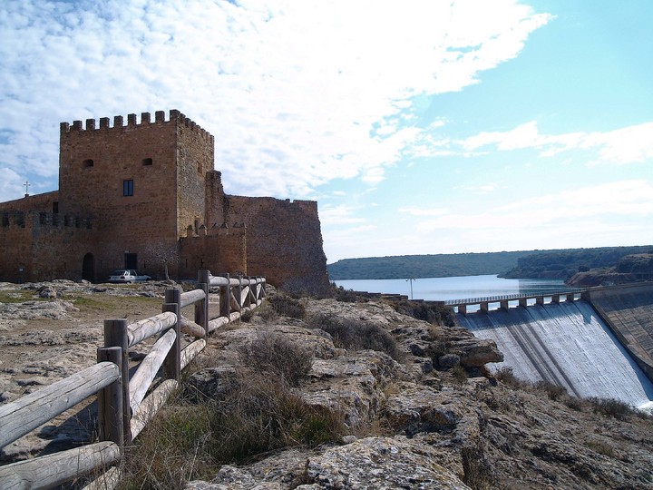
<path fill-rule="evenodd" d="M 310 319 L 309 324 L 311 328 L 321 328 L 330 334 L 336 348 L 379 350 L 396 361 L 404 358 L 395 338 L 385 328 L 374 323 L 318 314 Z"/>

